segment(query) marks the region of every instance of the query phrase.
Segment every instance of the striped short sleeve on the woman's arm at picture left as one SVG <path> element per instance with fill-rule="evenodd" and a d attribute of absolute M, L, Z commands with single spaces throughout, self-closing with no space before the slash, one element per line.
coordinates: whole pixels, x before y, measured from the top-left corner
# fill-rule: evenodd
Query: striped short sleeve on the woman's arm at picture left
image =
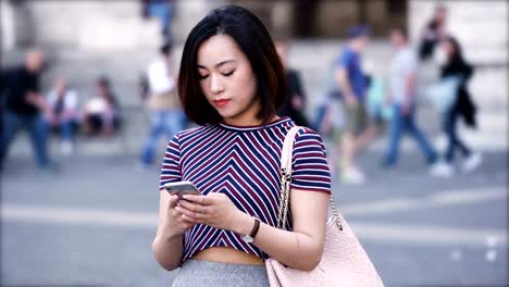
<path fill-rule="evenodd" d="M 167 183 L 182 182 L 181 174 L 181 146 L 178 144 L 178 135 L 174 136 L 167 144 L 164 159 L 161 166 L 161 178 L 159 189 L 163 188 Z"/>

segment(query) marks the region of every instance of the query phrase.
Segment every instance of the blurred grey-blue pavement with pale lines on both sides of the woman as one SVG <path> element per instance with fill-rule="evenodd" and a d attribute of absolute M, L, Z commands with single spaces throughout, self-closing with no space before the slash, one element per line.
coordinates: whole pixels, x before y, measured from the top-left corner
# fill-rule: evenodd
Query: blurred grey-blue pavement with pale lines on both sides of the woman
<path fill-rule="evenodd" d="M 432 178 L 420 154 L 369 182 L 334 183 L 342 212 L 387 286 L 508 284 L 507 152 L 485 152 L 469 175 Z M 55 174 L 11 158 L 2 176 L 3 285 L 167 286 L 151 254 L 158 171 L 135 157 L 60 158 Z"/>

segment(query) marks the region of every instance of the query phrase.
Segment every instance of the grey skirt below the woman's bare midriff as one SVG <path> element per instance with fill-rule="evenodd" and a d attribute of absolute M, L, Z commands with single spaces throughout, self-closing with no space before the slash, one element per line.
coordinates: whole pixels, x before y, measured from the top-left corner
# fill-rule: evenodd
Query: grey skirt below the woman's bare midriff
<path fill-rule="evenodd" d="M 199 286 L 269 286 L 263 265 L 231 264 L 187 260 L 173 280 L 173 287 Z"/>

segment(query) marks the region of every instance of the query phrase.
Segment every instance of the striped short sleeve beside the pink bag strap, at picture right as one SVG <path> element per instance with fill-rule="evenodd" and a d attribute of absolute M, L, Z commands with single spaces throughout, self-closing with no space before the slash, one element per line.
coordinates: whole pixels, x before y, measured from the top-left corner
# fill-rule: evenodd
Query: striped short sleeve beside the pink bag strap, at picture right
<path fill-rule="evenodd" d="M 291 188 L 331 194 L 331 171 L 320 135 L 309 128 L 299 130 L 291 162 Z"/>

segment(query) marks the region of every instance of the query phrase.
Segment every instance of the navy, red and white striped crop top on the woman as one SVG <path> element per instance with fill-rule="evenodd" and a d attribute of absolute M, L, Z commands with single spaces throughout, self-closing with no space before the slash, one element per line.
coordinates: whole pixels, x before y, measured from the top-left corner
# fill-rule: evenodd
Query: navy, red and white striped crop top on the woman
<path fill-rule="evenodd" d="M 220 123 L 183 130 L 167 145 L 159 187 L 191 182 L 201 194 L 223 192 L 240 211 L 276 226 L 281 150 L 293 126 L 289 117 L 282 117 L 265 126 Z M 331 192 L 325 148 L 313 130 L 306 128 L 297 134 L 291 167 L 291 188 Z M 286 227 L 291 229 L 290 220 Z M 262 260 L 268 258 L 238 234 L 198 224 L 184 234 L 183 262 L 209 247 L 231 247 Z"/>

